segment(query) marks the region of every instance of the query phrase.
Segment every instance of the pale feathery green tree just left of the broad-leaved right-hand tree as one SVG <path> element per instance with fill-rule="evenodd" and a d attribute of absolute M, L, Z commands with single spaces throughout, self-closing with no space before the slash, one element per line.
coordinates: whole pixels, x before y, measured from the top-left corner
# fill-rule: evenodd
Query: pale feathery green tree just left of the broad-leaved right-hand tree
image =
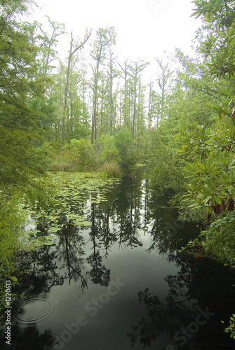
<path fill-rule="evenodd" d="M 148 156 L 152 183 L 158 186 L 161 192 L 167 189 L 173 190 L 176 197 L 172 204 L 182 208 L 188 205 L 188 202 L 183 204 L 181 200 L 182 195 L 187 193 L 184 160 L 188 162 L 194 160 L 191 147 L 195 143 L 194 140 L 192 144 L 187 142 L 189 149 L 185 149 L 186 142 L 182 142 L 184 152 L 177 153 L 175 134 L 182 132 L 186 124 L 191 130 L 194 130 L 195 125 L 199 123 L 203 123 L 206 127 L 212 125 L 208 102 L 211 99 L 210 94 L 216 96 L 216 93 L 206 74 L 205 66 L 198 59 L 190 59 L 180 50 L 176 50 L 175 59 L 181 67 L 179 66 L 177 77 L 172 81 L 173 90 L 168 93 L 166 99 L 168 117 L 161 120 L 156 129 L 150 133 L 152 138 Z M 188 137 L 187 132 L 188 130 L 185 130 L 184 139 Z"/>

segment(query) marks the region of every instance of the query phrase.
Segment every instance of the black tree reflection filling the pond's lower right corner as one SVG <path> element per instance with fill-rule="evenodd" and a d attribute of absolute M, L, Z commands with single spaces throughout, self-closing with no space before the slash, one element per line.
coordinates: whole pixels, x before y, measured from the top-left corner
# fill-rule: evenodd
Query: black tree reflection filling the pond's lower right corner
<path fill-rule="evenodd" d="M 228 322 L 235 306 L 231 269 L 182 253 L 175 253 L 175 262 L 181 269 L 175 276 L 166 276 L 169 291 L 164 302 L 148 288 L 137 293 L 147 318 L 131 328 L 132 346 L 140 343 L 148 348 L 153 342 L 156 346 L 157 337 L 167 332 L 169 342 L 161 349 L 234 349 L 234 340 L 224 333 L 221 322 Z"/>

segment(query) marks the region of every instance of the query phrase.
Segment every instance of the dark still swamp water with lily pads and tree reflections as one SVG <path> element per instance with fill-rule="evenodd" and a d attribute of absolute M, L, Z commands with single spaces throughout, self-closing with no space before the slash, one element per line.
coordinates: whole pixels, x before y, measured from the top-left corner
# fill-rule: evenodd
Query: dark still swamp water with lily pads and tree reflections
<path fill-rule="evenodd" d="M 30 214 L 27 230 L 43 244 L 18 257 L 11 292 L 22 298 L 11 345 L 1 318 L 1 349 L 234 349 L 224 333 L 234 272 L 180 253 L 199 228 L 177 221 L 148 181 L 64 174 L 51 184 L 61 207 Z"/>

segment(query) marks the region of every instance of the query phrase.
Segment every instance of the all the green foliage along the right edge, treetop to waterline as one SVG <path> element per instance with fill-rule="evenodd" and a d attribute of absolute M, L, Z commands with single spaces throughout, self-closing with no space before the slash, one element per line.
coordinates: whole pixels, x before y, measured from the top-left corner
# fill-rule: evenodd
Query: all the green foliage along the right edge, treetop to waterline
<path fill-rule="evenodd" d="M 193 15 L 203 17 L 208 33 L 201 35 L 199 52 L 204 61 L 201 76 L 194 82 L 194 91 L 208 97 L 200 98 L 206 102 L 204 106 L 199 99 L 194 104 L 196 114 L 200 116 L 203 111 L 206 118 L 184 120 L 175 141 L 180 142 L 178 153 L 184 158 L 188 190 L 185 206 L 203 208 L 208 220 L 214 217 L 213 212 L 216 216 L 191 244 L 202 246 L 206 253 L 235 267 L 234 1 L 193 2 L 197 7 Z M 225 332 L 235 339 L 234 316 Z"/>

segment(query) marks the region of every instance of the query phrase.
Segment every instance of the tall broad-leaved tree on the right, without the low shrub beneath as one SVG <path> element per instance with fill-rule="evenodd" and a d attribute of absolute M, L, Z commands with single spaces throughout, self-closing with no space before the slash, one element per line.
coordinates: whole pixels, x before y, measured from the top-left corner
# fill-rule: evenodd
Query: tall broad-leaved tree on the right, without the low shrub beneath
<path fill-rule="evenodd" d="M 194 1 L 194 15 L 203 16 L 210 34 L 200 51 L 210 82 L 208 125 L 188 124 L 180 131 L 181 153 L 187 156 L 189 194 L 196 206 L 204 207 L 208 218 L 214 212 L 234 210 L 234 1 Z M 205 76 L 205 71 L 203 76 Z"/>

